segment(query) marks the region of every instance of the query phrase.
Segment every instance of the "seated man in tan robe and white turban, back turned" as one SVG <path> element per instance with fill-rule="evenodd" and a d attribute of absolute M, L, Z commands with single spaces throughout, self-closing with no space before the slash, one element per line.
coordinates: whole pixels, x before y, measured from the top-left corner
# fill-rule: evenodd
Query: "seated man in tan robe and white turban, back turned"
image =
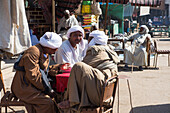
<path fill-rule="evenodd" d="M 99 30 L 91 32 L 89 36 L 87 54 L 82 62 L 73 66 L 65 101 L 58 104 L 64 113 L 72 110 L 78 112 L 83 106 L 99 106 L 104 80 L 117 75 L 119 59 L 116 52 L 107 46 L 108 37 Z"/>

